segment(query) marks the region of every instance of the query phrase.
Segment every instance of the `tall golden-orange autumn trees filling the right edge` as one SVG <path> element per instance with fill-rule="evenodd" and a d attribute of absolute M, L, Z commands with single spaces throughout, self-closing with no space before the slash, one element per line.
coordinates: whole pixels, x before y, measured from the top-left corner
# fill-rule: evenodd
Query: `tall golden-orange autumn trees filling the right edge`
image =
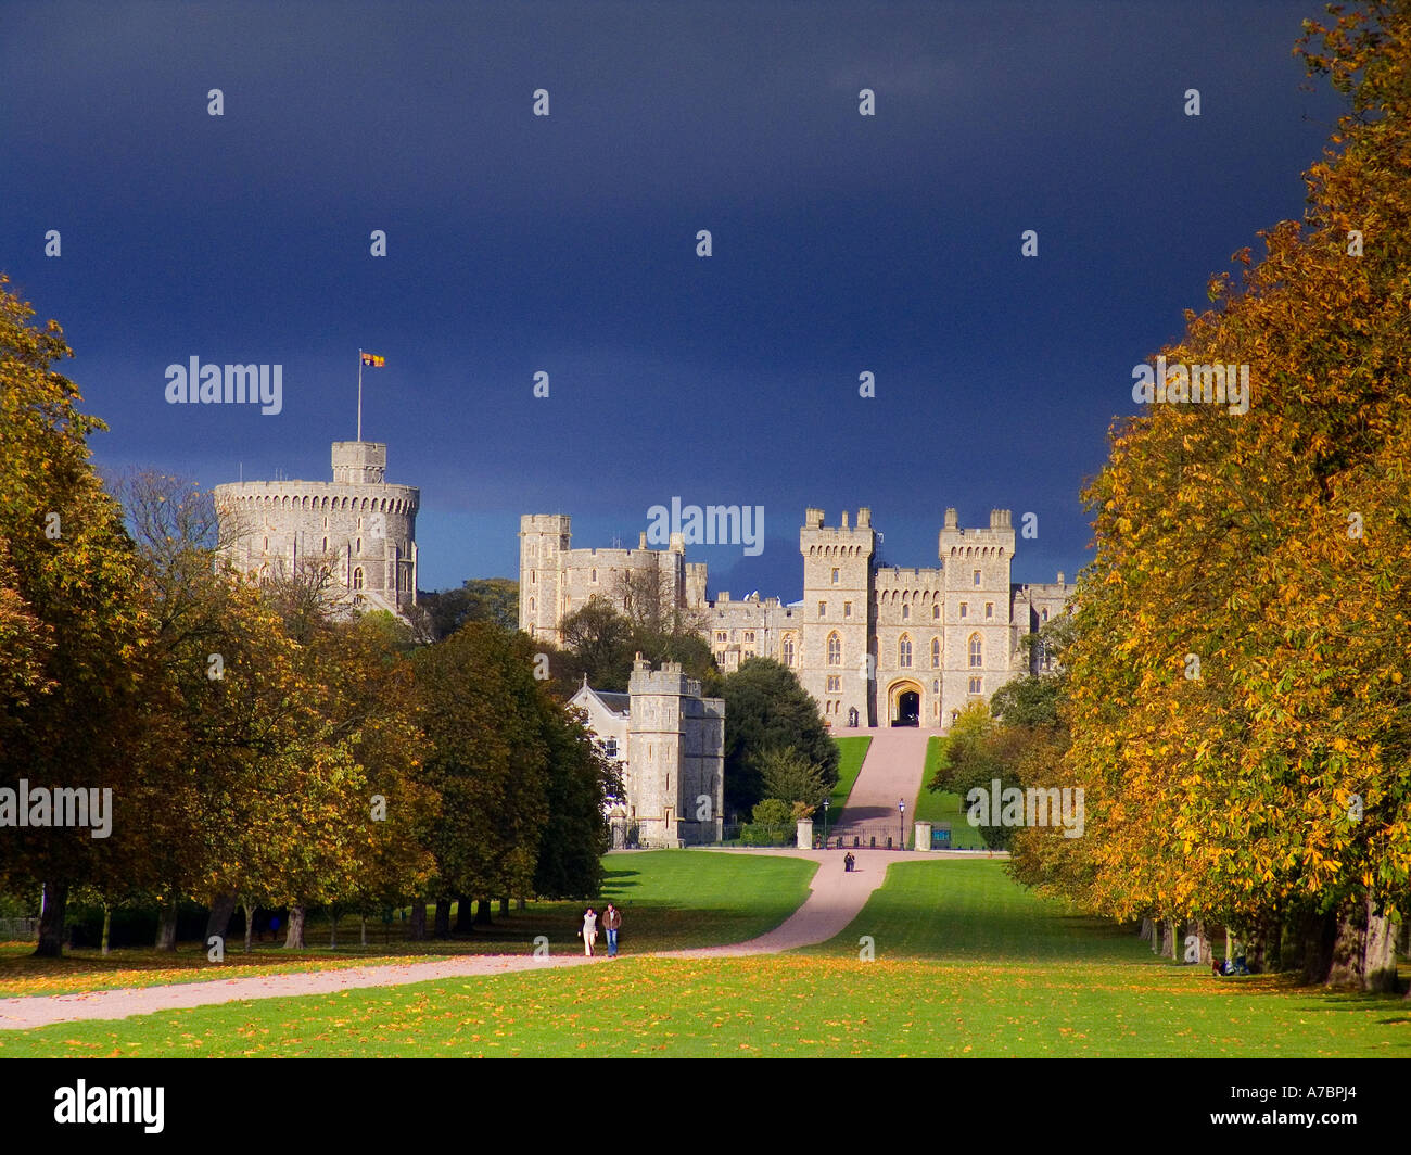
<path fill-rule="evenodd" d="M 1046 853 L 1094 909 L 1384 988 L 1411 905 L 1411 8 L 1331 11 L 1297 51 L 1352 110 L 1304 220 L 1212 281 L 1163 350 L 1175 404 L 1119 424 L 1085 493 L 1062 713 L 1088 833 Z M 1246 366 L 1247 411 L 1181 404 L 1191 366 Z"/>

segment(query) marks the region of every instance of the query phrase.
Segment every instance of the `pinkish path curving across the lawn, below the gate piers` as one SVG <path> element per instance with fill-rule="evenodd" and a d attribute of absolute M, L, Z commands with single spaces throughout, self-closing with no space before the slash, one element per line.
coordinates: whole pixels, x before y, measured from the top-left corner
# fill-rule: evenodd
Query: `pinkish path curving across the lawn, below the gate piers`
<path fill-rule="evenodd" d="M 804 904 L 783 923 L 766 935 L 734 946 L 707 946 L 693 950 L 670 950 L 645 957 L 706 959 L 744 954 L 775 954 L 797 946 L 827 942 L 847 928 L 866 904 L 886 875 L 889 861 L 897 854 L 883 850 L 856 851 L 856 870 L 844 871 L 842 854 L 837 850 L 727 850 L 703 849 L 703 854 L 787 854 L 820 863 L 813 888 Z M 943 857 L 943 856 L 926 856 Z M 958 856 L 964 857 L 964 856 Z M 912 856 L 906 856 L 907 860 Z M 406 983 L 426 983 L 436 979 L 459 979 L 478 974 L 509 974 L 549 967 L 587 966 L 602 962 L 602 956 L 587 959 L 581 954 L 467 954 L 432 963 L 394 963 L 389 966 L 347 967 L 340 970 L 301 971 L 296 974 L 265 974 L 248 979 L 226 979 L 212 983 L 174 983 L 159 987 L 134 987 L 83 994 L 30 995 L 0 1000 L 0 1031 L 27 1031 L 51 1022 L 79 1019 L 114 1019 L 130 1015 L 150 1015 L 157 1011 L 209 1007 L 217 1003 L 240 1003 L 251 998 L 286 998 L 301 994 L 332 994 L 358 987 L 396 987 Z"/>

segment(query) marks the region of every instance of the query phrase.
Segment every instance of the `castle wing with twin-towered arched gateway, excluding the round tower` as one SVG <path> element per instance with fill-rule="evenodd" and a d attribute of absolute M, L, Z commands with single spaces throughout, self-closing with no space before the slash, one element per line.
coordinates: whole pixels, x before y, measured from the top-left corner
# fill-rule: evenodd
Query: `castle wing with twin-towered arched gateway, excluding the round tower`
<path fill-rule="evenodd" d="M 687 563 L 679 541 L 665 551 L 646 549 L 645 535 L 638 551 L 569 549 L 569 525 L 562 515 L 521 520 L 522 630 L 559 642 L 563 617 L 595 592 L 611 597 L 617 555 L 631 555 L 638 569 L 679 575 L 672 596 L 703 617 L 722 671 L 756 654 L 783 662 L 835 729 L 948 729 L 969 702 L 988 702 L 1005 682 L 1037 669 L 1040 658 L 1026 657 L 1023 638 L 1064 613 L 1072 594 L 1062 573 L 1038 585 L 1010 580 L 1009 510 L 991 511 L 979 528 L 961 528 L 957 511 L 947 510 L 941 565 L 928 569 L 878 565 L 871 510 L 858 510 L 855 521 L 844 513 L 831 527 L 823 510 L 809 510 L 799 531 L 803 600 L 792 604 L 731 600 L 728 592 L 708 600 L 706 566 Z"/>

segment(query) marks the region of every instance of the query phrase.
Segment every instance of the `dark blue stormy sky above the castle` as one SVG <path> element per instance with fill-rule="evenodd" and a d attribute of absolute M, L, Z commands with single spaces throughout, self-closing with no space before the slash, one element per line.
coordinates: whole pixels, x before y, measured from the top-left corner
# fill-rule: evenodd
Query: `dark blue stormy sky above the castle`
<path fill-rule="evenodd" d="M 761 556 L 690 551 L 713 592 L 800 596 L 807 505 L 871 505 L 906 566 L 947 505 L 1033 511 L 1015 578 L 1051 580 L 1132 367 L 1302 213 L 1319 11 L 6 4 L 0 268 L 104 466 L 329 480 L 384 354 L 364 436 L 420 486 L 423 589 L 514 576 L 521 513 L 635 544 L 673 496 L 765 507 Z M 282 414 L 168 405 L 192 356 L 282 364 Z"/>

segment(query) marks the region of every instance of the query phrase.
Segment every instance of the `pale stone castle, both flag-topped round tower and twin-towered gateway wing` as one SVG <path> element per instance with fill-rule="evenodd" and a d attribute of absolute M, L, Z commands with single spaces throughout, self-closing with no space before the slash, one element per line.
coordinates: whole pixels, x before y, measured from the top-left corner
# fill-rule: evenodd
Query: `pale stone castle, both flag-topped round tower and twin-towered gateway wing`
<path fill-rule="evenodd" d="M 405 614 L 416 604 L 420 491 L 387 481 L 381 442 L 333 442 L 332 481 L 236 481 L 217 486 L 226 551 L 247 573 L 277 578 L 313 562 L 334 600 Z M 519 521 L 519 628 L 560 644 L 563 620 L 594 596 L 622 604 L 649 583 L 700 623 L 725 672 L 746 658 L 794 671 L 834 729 L 914 724 L 945 729 L 975 700 L 1040 661 L 1022 645 L 1064 611 L 1072 587 L 1010 580 L 1015 529 L 1007 510 L 962 528 L 947 510 L 940 565 L 878 565 L 871 510 L 824 525 L 809 510 L 799 531 L 803 600 L 707 596 L 706 565 L 686 561 L 686 541 L 665 548 L 574 549 L 570 518 Z"/>

